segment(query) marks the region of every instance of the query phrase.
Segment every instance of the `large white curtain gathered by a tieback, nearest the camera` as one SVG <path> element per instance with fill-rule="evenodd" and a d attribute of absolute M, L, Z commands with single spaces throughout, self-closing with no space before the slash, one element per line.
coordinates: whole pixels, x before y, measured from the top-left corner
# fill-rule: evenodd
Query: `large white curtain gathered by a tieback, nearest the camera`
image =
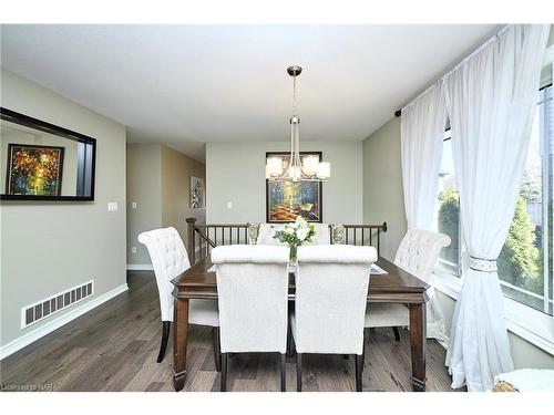
<path fill-rule="evenodd" d="M 550 25 L 509 25 L 445 76 L 469 264 L 447 364 L 452 387 L 488 391 L 513 370 L 496 258 L 515 209 Z"/>

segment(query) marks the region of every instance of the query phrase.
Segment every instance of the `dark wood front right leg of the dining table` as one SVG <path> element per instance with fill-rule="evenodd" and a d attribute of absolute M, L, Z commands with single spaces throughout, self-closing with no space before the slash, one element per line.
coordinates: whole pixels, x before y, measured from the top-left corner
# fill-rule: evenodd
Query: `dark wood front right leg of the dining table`
<path fill-rule="evenodd" d="M 412 385 L 414 392 L 425 391 L 427 307 L 410 304 L 410 345 L 412 352 Z"/>

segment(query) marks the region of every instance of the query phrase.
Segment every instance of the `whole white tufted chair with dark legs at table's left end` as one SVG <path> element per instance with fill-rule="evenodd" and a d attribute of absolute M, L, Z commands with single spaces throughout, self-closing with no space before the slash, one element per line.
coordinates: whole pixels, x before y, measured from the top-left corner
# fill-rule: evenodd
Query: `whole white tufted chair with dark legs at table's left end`
<path fill-rule="evenodd" d="M 160 309 L 162 314 L 162 344 L 157 356 L 161 363 L 165 355 L 170 325 L 173 321 L 173 295 L 174 286 L 172 280 L 191 268 L 188 256 L 175 228 L 154 229 L 138 235 L 138 241 L 146 246 L 154 273 L 156 276 L 157 292 L 160 294 Z M 220 369 L 219 359 L 219 315 L 217 301 L 215 300 L 189 300 L 188 323 L 208 325 L 214 331 L 214 360 L 217 371 Z"/>

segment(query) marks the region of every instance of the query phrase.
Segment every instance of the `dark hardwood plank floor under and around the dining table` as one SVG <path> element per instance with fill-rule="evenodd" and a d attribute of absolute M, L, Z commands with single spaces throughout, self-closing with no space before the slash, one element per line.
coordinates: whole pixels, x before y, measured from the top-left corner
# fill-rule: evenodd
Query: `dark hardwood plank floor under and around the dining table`
<path fill-rule="evenodd" d="M 162 332 L 153 272 L 130 271 L 130 290 L 0 362 L 3 390 L 42 385 L 52 391 L 173 391 L 172 346 L 156 363 Z M 411 391 L 409 333 L 390 329 L 366 336 L 363 391 Z M 451 391 L 444 349 L 428 341 L 428 391 Z M 353 391 L 355 360 L 304 356 L 304 391 Z M 218 391 L 208 328 L 192 326 L 184 391 Z M 228 391 L 279 391 L 278 354 L 229 360 Z M 296 391 L 294 359 L 287 391 Z"/>

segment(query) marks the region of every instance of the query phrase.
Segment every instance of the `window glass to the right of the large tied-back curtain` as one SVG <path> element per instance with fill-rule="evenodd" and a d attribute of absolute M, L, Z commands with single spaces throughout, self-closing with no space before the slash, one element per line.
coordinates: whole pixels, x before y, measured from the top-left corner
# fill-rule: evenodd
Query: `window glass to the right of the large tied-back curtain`
<path fill-rule="evenodd" d="M 552 98 L 552 86 L 541 91 L 520 197 L 497 260 L 504 295 L 547 314 L 553 314 Z"/>

